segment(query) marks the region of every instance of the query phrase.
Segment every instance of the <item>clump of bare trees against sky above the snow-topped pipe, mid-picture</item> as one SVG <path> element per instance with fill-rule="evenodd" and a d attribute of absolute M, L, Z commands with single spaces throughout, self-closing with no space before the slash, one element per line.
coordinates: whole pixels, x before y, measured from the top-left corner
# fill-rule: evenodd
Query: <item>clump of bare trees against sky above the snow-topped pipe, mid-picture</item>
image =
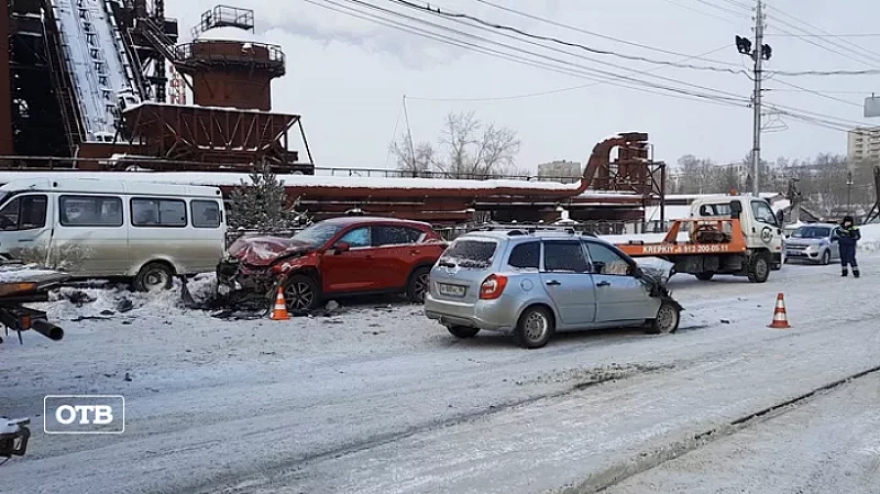
<path fill-rule="evenodd" d="M 515 166 L 520 147 L 516 131 L 494 123 L 484 124 L 473 112 L 468 112 L 447 116 L 439 153 L 427 142 L 414 146 L 408 133 L 393 143 L 391 151 L 398 169 L 415 176 L 437 168 L 449 178 L 493 178 L 528 175 L 527 171 Z"/>

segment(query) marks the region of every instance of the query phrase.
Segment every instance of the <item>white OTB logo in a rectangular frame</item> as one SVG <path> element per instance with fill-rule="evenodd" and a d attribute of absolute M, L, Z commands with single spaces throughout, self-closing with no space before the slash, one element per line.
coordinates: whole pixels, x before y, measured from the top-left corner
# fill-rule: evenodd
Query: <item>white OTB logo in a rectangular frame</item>
<path fill-rule="evenodd" d="M 48 395 L 43 398 L 45 433 L 122 433 L 125 398 L 119 395 Z"/>

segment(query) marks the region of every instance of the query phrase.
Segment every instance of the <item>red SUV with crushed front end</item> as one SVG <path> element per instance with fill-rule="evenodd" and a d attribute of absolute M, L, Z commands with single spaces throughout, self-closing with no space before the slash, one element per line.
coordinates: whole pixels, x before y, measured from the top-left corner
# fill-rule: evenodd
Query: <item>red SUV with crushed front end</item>
<path fill-rule="evenodd" d="M 217 266 L 219 286 L 316 309 L 330 297 L 403 293 L 424 301 L 431 266 L 447 248 L 428 223 L 344 217 L 315 223 L 293 238 L 237 240 Z"/>

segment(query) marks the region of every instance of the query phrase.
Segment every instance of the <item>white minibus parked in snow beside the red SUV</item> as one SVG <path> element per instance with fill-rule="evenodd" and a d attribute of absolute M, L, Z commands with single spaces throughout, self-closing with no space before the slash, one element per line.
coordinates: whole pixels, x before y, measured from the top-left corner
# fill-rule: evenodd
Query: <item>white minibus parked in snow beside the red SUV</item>
<path fill-rule="evenodd" d="M 74 176 L 0 187 L 0 255 L 78 278 L 169 288 L 174 276 L 215 271 L 226 232 L 217 187 Z"/>

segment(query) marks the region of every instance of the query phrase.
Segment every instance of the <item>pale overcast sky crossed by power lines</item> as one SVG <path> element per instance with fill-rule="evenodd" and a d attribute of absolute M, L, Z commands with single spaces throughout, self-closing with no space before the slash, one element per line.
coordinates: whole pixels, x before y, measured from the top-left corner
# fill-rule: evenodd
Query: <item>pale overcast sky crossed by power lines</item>
<path fill-rule="evenodd" d="M 332 1 L 370 12 L 367 8 L 350 0 Z M 750 68 L 750 61 L 739 55 L 734 46 L 734 36 L 737 34 L 754 40 L 752 12 L 741 7 L 754 4 L 750 0 L 491 1 L 534 17 L 674 54 L 524 18 L 479 0 L 438 0 L 430 4 L 443 11 L 468 13 L 495 24 L 516 26 L 532 34 L 628 56 L 682 62 L 685 56 L 714 51 L 705 55 L 706 59 L 694 58 L 684 63 L 723 70 Z M 481 120 L 513 128 L 519 133 L 522 150 L 518 163 L 530 168 L 553 160 L 584 162 L 597 141 L 609 134 L 628 131 L 648 132 L 654 145 L 656 158 L 669 163 L 689 153 L 719 163 L 738 162 L 751 147 L 752 116 L 749 108 L 704 98 L 694 100 L 690 97 L 663 96 L 669 92 L 656 88 L 625 88 L 620 84 L 641 86 L 641 83 L 619 78 L 596 84 L 591 78 L 607 79 L 608 76 L 590 70 L 604 70 L 614 76 L 722 98 L 750 96 L 751 81 L 744 74 L 647 64 L 547 42 L 541 43 L 550 48 L 542 48 L 526 41 L 506 37 L 504 32 L 497 30 L 469 28 L 455 21 L 419 13 L 394 1 L 363 2 L 538 53 L 542 57 L 415 21 L 395 19 L 395 22 L 405 22 L 420 32 L 435 31 L 578 74 L 561 74 L 450 46 L 315 4 L 330 6 L 326 0 L 226 2 L 254 9 L 257 34 L 282 45 L 287 54 L 287 75 L 273 85 L 274 110 L 302 116 L 318 166 L 394 167 L 387 149 L 395 125 L 398 134 L 406 129 L 404 119 L 398 118 L 404 95 L 409 98 L 409 123 L 416 141 L 436 142 L 447 113 L 473 110 Z M 833 34 L 880 33 L 877 22 L 880 19 L 880 2 L 769 0 L 767 3 L 767 43 L 772 46 L 768 70 L 880 69 L 880 36 L 795 37 L 784 32 L 804 34 L 801 31 L 803 29 L 818 34 L 818 28 Z M 166 9 L 168 15 L 180 21 L 182 32 L 188 33 L 189 28 L 198 22 L 199 14 L 215 4 L 216 0 L 176 0 L 166 2 Z M 880 119 L 864 120 L 860 108 L 864 98 L 870 96 L 871 91 L 880 95 L 880 75 L 777 74 L 772 79 L 766 83 L 766 87 L 778 90 L 768 91 L 766 100 L 787 107 L 787 111 L 796 110 L 802 116 L 804 111 L 827 116 L 809 116 L 823 120 L 843 119 L 844 122 L 839 122 L 838 127 L 848 125 L 847 121 L 854 124 L 880 124 Z M 584 85 L 593 86 L 544 96 L 504 99 Z M 468 100 L 475 98 L 496 99 Z M 804 123 L 789 116 L 765 117 L 765 121 L 768 130 L 773 130 L 763 134 L 765 158 L 846 152 L 846 133 L 840 130 Z"/>

